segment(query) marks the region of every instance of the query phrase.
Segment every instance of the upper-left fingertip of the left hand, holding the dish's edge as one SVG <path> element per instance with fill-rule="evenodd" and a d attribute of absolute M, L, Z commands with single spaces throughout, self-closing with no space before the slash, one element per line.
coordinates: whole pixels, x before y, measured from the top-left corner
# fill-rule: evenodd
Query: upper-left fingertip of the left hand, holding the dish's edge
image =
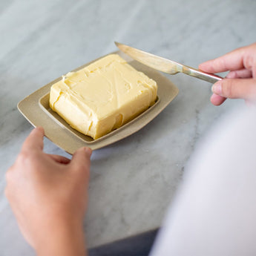
<path fill-rule="evenodd" d="M 27 139 L 24 141 L 22 150 L 28 150 L 28 151 L 35 151 L 39 150 L 42 151 L 44 148 L 44 138 L 45 131 L 42 127 L 36 127 L 33 129 L 33 131 L 30 132 L 30 135 L 27 137 Z"/>

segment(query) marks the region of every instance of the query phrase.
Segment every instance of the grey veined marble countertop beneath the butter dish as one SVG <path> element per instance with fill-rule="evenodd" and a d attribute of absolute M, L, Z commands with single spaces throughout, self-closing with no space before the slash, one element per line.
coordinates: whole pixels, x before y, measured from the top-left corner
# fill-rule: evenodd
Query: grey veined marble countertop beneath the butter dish
<path fill-rule="evenodd" d="M 0 2 L 0 255 L 33 255 L 4 197 L 7 168 L 32 126 L 17 103 L 68 71 L 116 50 L 114 41 L 197 68 L 255 42 L 255 1 Z M 211 85 L 166 75 L 179 95 L 136 134 L 93 151 L 85 232 L 94 247 L 160 227 L 197 141 L 243 104 L 209 102 Z M 45 139 L 45 151 L 70 157 Z M 185 168 L 186 171 L 186 168 Z"/>

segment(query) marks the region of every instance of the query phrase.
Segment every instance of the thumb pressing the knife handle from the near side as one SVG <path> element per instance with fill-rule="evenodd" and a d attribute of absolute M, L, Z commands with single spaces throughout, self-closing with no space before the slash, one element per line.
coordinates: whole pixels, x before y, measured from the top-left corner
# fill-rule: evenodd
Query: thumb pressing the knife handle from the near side
<path fill-rule="evenodd" d="M 230 99 L 256 99 L 256 79 L 223 79 L 216 82 L 211 90 L 217 95 Z"/>

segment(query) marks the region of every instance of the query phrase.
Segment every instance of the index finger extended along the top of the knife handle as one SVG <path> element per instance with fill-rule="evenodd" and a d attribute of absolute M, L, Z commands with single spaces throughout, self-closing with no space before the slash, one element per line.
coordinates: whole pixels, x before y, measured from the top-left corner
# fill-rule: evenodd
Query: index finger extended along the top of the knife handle
<path fill-rule="evenodd" d="M 209 73 L 219 73 L 228 70 L 240 70 L 243 68 L 252 69 L 252 65 L 255 62 L 254 53 L 256 50 L 256 44 L 246 47 L 240 47 L 236 50 L 232 50 L 230 53 L 226 53 L 217 59 L 211 59 L 207 62 L 203 62 L 199 65 L 199 69 Z"/>

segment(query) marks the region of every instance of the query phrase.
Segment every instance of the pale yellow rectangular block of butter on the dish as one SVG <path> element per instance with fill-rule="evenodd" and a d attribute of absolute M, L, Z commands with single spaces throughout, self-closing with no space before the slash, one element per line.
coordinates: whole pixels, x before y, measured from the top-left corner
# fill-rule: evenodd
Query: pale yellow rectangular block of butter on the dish
<path fill-rule="evenodd" d="M 94 140 L 134 119 L 156 99 L 157 83 L 117 54 L 67 73 L 50 88 L 50 108 Z"/>

